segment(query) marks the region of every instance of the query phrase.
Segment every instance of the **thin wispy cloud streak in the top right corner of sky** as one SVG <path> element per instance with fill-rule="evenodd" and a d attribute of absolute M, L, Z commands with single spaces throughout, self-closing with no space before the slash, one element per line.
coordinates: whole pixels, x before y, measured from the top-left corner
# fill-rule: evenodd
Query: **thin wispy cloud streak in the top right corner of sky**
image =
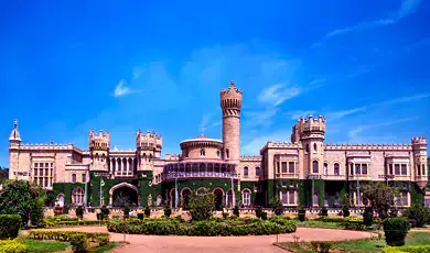
<path fill-rule="evenodd" d="M 338 36 L 351 32 L 361 32 L 361 31 L 365 31 L 378 26 L 396 24 L 400 20 L 412 14 L 421 2 L 422 0 L 402 0 L 400 8 L 395 13 L 390 14 L 390 16 L 385 19 L 376 19 L 372 21 L 364 21 L 351 26 L 333 30 L 326 33 L 319 42 L 313 43 L 311 45 L 311 48 L 321 46 L 325 41 L 334 36 Z"/>

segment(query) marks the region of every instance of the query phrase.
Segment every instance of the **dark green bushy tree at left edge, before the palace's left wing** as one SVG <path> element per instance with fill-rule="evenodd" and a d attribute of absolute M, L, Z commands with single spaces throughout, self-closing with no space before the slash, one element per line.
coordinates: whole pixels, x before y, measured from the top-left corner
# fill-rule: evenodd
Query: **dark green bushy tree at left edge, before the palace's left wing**
<path fill-rule="evenodd" d="M 45 199 L 45 191 L 28 180 L 7 180 L 0 191 L 0 215 L 20 215 L 23 226 L 29 218 L 33 226 L 40 226 Z"/>

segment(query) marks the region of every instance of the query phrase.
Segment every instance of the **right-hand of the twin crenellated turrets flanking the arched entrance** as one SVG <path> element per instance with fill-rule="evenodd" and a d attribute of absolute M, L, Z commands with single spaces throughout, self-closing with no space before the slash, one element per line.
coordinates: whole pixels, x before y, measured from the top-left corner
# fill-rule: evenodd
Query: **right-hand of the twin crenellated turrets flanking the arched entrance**
<path fill-rule="evenodd" d="M 153 158 L 161 157 L 163 138 L 155 131 L 138 131 L 136 133 L 136 147 L 138 152 L 138 172 L 153 170 Z"/>

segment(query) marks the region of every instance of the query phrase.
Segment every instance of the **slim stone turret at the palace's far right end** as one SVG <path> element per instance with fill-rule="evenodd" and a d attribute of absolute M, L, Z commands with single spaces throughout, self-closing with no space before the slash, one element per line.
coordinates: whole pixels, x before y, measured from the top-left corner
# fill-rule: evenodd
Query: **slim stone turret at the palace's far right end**
<path fill-rule="evenodd" d="M 413 169 L 417 185 L 420 188 L 426 187 L 427 175 L 427 140 L 426 138 L 412 138 Z M 413 177 L 412 177 L 413 178 Z"/>

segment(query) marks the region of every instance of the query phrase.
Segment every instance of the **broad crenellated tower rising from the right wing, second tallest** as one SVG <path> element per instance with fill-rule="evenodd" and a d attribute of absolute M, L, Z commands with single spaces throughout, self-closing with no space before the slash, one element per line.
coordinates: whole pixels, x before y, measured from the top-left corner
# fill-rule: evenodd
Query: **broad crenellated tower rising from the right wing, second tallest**
<path fill-rule="evenodd" d="M 300 118 L 295 128 L 300 132 L 300 141 L 304 150 L 304 174 L 323 175 L 324 172 L 324 134 L 325 118 L 309 116 Z"/>

